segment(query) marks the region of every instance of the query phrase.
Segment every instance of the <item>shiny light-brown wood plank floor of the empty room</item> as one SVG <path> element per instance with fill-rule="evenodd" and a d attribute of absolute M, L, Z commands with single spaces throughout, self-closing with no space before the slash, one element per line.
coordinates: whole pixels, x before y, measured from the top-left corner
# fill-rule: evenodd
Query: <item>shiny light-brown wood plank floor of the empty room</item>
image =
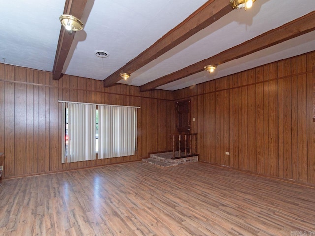
<path fill-rule="evenodd" d="M 0 235 L 315 235 L 315 188 L 205 163 L 4 180 Z"/>

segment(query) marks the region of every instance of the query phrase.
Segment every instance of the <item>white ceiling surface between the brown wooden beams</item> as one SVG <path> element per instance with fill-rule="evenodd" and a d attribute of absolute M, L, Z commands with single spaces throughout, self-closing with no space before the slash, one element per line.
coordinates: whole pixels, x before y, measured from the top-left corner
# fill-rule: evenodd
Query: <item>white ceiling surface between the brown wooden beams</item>
<path fill-rule="evenodd" d="M 63 73 L 103 80 L 173 29 L 206 0 L 92 0 L 75 34 Z M 285 2 L 285 3 L 284 3 Z M 0 61 L 52 71 L 59 16 L 65 0 L 1 0 Z M 87 5 L 89 5 L 87 4 Z M 251 9 L 233 10 L 189 39 L 132 73 L 127 83 L 141 86 L 216 55 L 315 10 L 315 0 L 257 0 Z M 95 56 L 105 50 L 107 58 Z M 246 57 L 163 85 L 177 90 L 315 50 L 311 32 Z M 4 58 L 4 59 L 3 59 Z"/>

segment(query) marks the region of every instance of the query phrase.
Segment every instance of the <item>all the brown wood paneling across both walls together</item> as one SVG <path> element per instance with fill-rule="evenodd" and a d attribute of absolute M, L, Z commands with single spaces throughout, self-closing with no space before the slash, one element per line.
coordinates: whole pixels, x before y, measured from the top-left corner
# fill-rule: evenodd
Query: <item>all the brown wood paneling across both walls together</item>
<path fill-rule="evenodd" d="M 140 160 L 169 150 L 175 102 L 191 98 L 201 161 L 315 183 L 314 58 L 311 52 L 193 88 L 144 93 L 68 75 L 52 81 L 49 72 L 0 64 L 4 177 Z M 58 99 L 140 106 L 138 155 L 61 164 Z"/>

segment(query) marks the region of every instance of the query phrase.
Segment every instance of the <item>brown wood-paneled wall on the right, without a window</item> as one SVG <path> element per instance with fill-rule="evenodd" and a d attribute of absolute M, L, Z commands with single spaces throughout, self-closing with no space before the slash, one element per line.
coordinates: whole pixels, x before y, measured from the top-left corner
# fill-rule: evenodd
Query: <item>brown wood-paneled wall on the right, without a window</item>
<path fill-rule="evenodd" d="M 177 90 L 191 98 L 199 160 L 314 184 L 314 66 L 311 52 Z"/>

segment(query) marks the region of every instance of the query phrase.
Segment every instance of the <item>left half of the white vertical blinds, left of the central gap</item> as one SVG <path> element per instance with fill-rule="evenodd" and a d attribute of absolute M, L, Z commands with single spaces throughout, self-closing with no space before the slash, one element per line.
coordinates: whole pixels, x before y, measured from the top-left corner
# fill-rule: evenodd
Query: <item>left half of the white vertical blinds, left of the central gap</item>
<path fill-rule="evenodd" d="M 96 159 L 96 105 L 68 103 L 68 162 Z"/>

